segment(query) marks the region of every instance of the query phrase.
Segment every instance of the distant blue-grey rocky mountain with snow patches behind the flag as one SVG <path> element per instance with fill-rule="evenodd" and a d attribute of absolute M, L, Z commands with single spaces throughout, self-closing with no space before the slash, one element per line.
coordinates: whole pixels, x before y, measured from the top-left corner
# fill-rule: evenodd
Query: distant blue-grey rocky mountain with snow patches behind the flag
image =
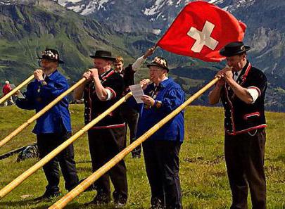
<path fill-rule="evenodd" d="M 191 0 L 58 0 L 58 4 L 82 15 L 98 20 L 117 32 L 148 32 L 159 37 L 167 30 L 179 11 Z M 285 1 L 272 0 L 209 0 L 237 19 L 246 23 L 244 42 L 252 47 L 248 56 L 269 79 L 270 103 L 279 103 L 277 110 L 285 110 Z M 160 52 L 161 53 L 161 52 Z M 167 56 L 167 54 L 166 54 Z M 182 60 L 183 77 L 192 77 L 195 68 L 208 63 Z M 172 62 L 171 62 L 172 63 Z M 182 66 L 177 66 L 182 67 Z M 214 65 L 213 68 L 216 66 Z M 181 73 L 173 70 L 175 74 Z M 194 73 L 195 74 L 195 73 Z M 210 74 L 211 75 L 211 74 Z M 208 75 L 204 75 L 207 80 Z M 193 89 L 191 89 L 193 90 Z M 281 100 L 280 100 L 281 99 Z M 281 102 L 280 102 L 281 101 Z M 268 104 L 268 107 L 271 106 Z M 274 108 L 273 108 L 274 109 Z"/>

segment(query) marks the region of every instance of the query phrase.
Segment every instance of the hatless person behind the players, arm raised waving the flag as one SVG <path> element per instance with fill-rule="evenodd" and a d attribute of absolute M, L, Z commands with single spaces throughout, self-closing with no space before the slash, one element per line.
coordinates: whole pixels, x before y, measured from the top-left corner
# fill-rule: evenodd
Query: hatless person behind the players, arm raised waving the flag
<path fill-rule="evenodd" d="M 123 94 L 127 94 L 127 92 L 129 91 L 129 86 L 134 85 L 134 73 L 137 72 L 137 70 L 139 70 L 144 61 L 146 61 L 146 58 L 148 58 L 148 56 L 151 56 L 153 54 L 153 51 L 154 47 L 148 49 L 148 51 L 144 53 L 144 56 L 137 58 L 137 61 L 135 61 L 132 65 L 128 65 L 127 68 L 124 68 L 124 60 L 121 56 L 115 58 L 114 70 L 120 73 L 125 82 L 125 91 L 123 92 Z M 125 122 L 129 127 L 129 141 L 132 144 L 132 142 L 136 140 L 137 122 L 139 120 L 139 113 L 137 112 L 137 109 L 129 106 L 127 102 L 122 103 L 122 106 L 120 108 L 122 111 L 122 117 L 124 118 Z M 127 126 L 126 126 L 126 134 L 127 134 Z M 141 146 L 138 146 L 132 151 L 132 158 L 140 158 L 140 157 L 141 157 Z"/>

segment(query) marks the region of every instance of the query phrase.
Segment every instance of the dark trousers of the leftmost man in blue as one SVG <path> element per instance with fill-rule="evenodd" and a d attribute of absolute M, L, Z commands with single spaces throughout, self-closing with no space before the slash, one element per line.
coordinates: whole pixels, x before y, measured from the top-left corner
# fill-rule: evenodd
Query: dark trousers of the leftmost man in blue
<path fill-rule="evenodd" d="M 37 146 L 39 148 L 39 158 L 44 158 L 53 149 L 63 144 L 63 142 L 71 137 L 71 132 L 62 134 L 37 134 Z M 48 181 L 46 191 L 56 192 L 59 191 L 59 168 L 58 163 L 61 166 L 61 172 L 65 179 L 65 189 L 72 190 L 78 184 L 78 177 L 76 172 L 74 150 L 71 144 L 53 158 L 49 163 L 44 165 L 44 174 Z"/>

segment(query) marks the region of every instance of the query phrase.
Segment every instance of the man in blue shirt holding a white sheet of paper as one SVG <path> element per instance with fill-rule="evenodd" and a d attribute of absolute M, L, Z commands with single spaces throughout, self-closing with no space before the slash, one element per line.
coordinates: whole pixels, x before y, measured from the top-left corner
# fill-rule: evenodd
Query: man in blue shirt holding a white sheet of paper
<path fill-rule="evenodd" d="M 156 57 L 149 65 L 151 84 L 144 85 L 144 106 L 141 106 L 137 136 L 184 103 L 184 91 L 171 78 L 167 61 Z M 184 139 L 184 113 L 158 129 L 143 143 L 146 174 L 151 186 L 151 208 L 181 209 L 182 198 L 179 181 L 179 151 Z"/>

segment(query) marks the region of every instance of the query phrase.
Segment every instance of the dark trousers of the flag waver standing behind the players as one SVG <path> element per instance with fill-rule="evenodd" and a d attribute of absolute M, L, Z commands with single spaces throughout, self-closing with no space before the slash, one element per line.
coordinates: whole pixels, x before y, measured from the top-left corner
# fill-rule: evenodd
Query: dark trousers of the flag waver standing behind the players
<path fill-rule="evenodd" d="M 129 127 L 129 142 L 132 144 L 136 140 L 137 134 L 137 123 L 139 121 L 139 113 L 136 109 L 127 106 L 127 104 L 123 103 L 121 106 L 122 117 L 124 118 L 127 126 Z M 127 134 L 127 126 L 126 126 L 126 134 Z M 132 156 L 140 156 L 141 155 L 141 145 L 134 148 L 132 151 Z"/>

